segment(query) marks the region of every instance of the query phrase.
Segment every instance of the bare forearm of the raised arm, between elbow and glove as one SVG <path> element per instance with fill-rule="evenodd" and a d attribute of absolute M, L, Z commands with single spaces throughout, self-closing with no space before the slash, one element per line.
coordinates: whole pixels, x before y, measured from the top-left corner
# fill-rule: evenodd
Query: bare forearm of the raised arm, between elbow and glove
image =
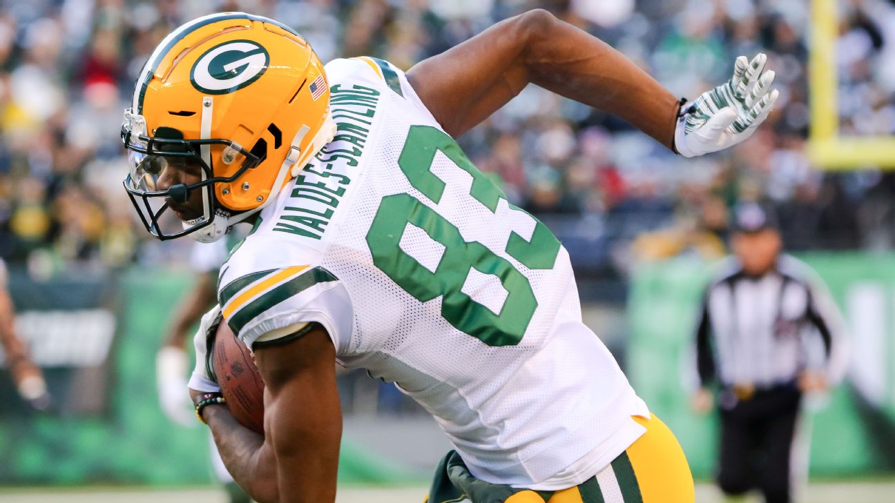
<path fill-rule="evenodd" d="M 547 13 L 533 17 L 524 51 L 529 81 L 618 115 L 672 147 L 678 98 L 599 38 Z"/>

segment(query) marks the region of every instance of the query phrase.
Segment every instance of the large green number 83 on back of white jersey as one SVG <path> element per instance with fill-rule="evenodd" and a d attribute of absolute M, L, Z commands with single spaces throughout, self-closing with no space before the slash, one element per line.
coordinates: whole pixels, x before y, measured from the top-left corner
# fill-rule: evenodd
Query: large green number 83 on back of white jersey
<path fill-rule="evenodd" d="M 446 186 L 431 172 L 439 151 L 473 176 L 470 195 L 492 213 L 498 209 L 500 199 L 507 199 L 446 132 L 431 126 L 414 125 L 407 134 L 398 166 L 413 188 L 433 203 L 439 203 Z M 513 205 L 509 207 L 522 211 Z M 526 241 L 513 232 L 505 252 L 528 269 L 552 269 L 559 252 L 559 241 L 539 220 L 531 218 L 535 222 L 531 239 Z M 401 249 L 401 238 L 408 225 L 421 228 L 444 246 L 434 271 Z M 491 252 L 482 243 L 464 241 L 455 225 L 422 201 L 410 194 L 382 198 L 366 240 L 373 264 L 405 292 L 422 303 L 441 296 L 441 316 L 456 329 L 487 345 L 517 345 L 522 340 L 538 307 L 528 278 L 512 262 Z M 507 291 L 499 313 L 462 292 L 472 269 L 498 277 Z"/>

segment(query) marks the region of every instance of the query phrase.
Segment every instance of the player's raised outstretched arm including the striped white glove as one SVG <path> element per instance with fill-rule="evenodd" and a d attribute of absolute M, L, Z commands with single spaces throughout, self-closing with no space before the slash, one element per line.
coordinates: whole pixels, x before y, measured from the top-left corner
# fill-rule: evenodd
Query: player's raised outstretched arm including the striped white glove
<path fill-rule="evenodd" d="M 617 50 L 540 9 L 501 21 L 416 64 L 407 79 L 441 127 L 463 134 L 529 83 L 634 124 L 687 158 L 745 141 L 771 112 L 777 90 L 767 58 L 737 58 L 733 77 L 679 101 Z"/>

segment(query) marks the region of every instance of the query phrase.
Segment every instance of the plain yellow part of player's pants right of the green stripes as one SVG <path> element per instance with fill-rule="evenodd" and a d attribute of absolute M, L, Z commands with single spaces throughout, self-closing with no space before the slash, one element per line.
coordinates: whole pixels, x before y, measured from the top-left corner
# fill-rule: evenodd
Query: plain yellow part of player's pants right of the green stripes
<path fill-rule="evenodd" d="M 646 433 L 626 454 L 644 503 L 693 503 L 693 474 L 678 439 L 664 422 L 635 417 Z"/>

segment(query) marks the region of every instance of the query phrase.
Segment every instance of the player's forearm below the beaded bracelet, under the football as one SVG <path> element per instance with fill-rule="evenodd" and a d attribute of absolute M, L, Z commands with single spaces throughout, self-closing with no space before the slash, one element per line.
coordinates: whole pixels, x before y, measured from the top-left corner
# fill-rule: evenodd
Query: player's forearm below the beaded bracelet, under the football
<path fill-rule="evenodd" d="M 223 406 L 202 412 L 227 471 L 259 503 L 278 503 L 277 460 L 264 437 L 236 422 Z"/>

